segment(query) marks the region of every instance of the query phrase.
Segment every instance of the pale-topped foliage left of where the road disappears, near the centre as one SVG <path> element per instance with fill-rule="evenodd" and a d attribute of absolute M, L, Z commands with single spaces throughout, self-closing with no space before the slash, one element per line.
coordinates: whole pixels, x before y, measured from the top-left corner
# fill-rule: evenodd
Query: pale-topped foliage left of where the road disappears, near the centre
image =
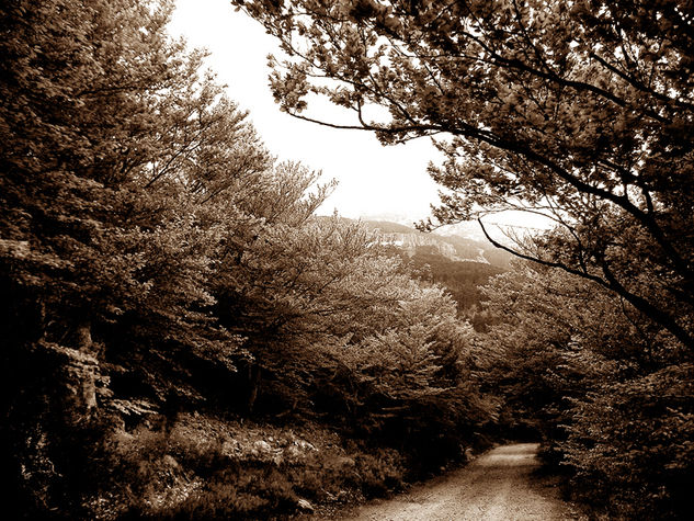
<path fill-rule="evenodd" d="M 356 435 L 409 455 L 417 474 L 465 458 L 496 403 L 479 392 L 471 328 L 455 303 L 439 287 L 409 285 L 390 321 L 333 349 L 337 365 L 319 381 L 317 405 L 343 415 Z"/>

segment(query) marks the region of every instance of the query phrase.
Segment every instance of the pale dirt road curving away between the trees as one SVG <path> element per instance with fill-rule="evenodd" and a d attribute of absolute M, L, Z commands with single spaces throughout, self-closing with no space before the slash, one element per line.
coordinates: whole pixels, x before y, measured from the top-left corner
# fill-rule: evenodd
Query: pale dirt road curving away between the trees
<path fill-rule="evenodd" d="M 366 505 L 345 521 L 579 519 L 556 489 L 532 475 L 536 453 L 536 443 L 499 446 L 460 471 Z"/>

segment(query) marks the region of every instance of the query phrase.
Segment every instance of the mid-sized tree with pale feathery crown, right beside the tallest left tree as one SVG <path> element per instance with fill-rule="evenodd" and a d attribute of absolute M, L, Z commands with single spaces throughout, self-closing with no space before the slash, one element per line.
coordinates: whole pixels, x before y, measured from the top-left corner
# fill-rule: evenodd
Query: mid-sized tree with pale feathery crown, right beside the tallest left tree
<path fill-rule="evenodd" d="M 383 257 L 360 224 L 311 215 L 331 188 L 308 192 L 316 172 L 281 165 L 265 181 L 246 201 L 249 219 L 219 258 L 217 315 L 246 338 L 239 378 L 248 375 L 240 385 L 247 412 L 306 411 L 306 389 L 327 363 L 326 351 L 364 336 L 374 305 L 396 301 L 388 293 L 402 282 L 400 262 Z M 388 316 L 383 307 L 379 316 Z"/>

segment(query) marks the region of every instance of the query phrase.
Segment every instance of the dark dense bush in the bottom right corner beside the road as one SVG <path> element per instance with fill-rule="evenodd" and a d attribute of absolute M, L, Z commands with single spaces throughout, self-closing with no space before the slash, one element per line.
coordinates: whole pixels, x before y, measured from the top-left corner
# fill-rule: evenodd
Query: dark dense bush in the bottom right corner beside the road
<path fill-rule="evenodd" d="M 685 519 L 694 483 L 694 366 L 610 383 L 576 400 L 558 445 L 574 496 L 611 516 Z"/>

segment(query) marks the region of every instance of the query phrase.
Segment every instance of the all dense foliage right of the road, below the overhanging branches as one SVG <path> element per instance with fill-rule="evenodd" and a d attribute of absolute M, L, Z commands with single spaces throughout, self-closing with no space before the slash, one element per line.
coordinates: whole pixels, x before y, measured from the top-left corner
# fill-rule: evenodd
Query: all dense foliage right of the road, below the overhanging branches
<path fill-rule="evenodd" d="M 687 352 L 600 286 L 530 267 L 483 292 L 486 386 L 505 435 L 539 433 L 573 498 L 618 519 L 681 519 L 691 479 Z"/>

